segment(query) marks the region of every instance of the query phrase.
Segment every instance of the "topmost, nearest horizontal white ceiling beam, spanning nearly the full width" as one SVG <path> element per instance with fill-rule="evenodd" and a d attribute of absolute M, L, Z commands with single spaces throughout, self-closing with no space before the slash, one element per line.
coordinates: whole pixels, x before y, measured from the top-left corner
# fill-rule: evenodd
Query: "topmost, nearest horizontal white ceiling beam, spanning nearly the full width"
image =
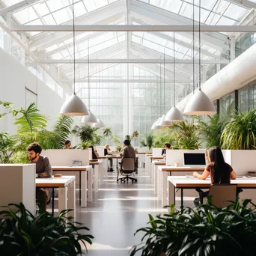
<path fill-rule="evenodd" d="M 12 25 L 11 31 L 73 31 L 73 25 Z M 195 25 L 75 25 L 76 32 L 89 31 L 174 31 L 198 32 L 199 26 Z M 256 25 L 201 25 L 201 32 L 255 32 Z"/>

